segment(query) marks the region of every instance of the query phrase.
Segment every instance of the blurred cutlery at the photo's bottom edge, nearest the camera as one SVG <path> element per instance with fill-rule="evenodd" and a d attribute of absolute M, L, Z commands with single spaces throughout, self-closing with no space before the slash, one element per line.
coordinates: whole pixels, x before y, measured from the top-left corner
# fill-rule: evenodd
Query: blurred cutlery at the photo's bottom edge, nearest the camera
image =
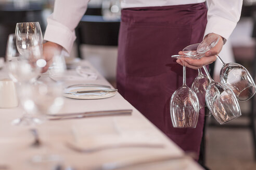
<path fill-rule="evenodd" d="M 169 162 L 169 161 L 177 161 L 177 160 L 183 160 L 183 159 L 191 159 L 190 155 L 183 154 L 183 155 L 173 155 L 173 156 L 162 156 L 157 158 L 150 158 L 150 159 L 144 159 L 144 160 L 137 160 L 134 162 L 110 162 L 105 163 L 99 167 L 93 168 L 93 170 L 115 170 L 115 169 L 122 169 L 122 168 L 131 168 L 138 166 L 138 165 L 147 165 L 147 164 L 154 164 L 154 163 L 163 163 L 163 162 Z M 181 167 L 174 168 L 174 169 L 185 169 L 187 167 L 187 164 L 181 164 Z M 143 168 L 141 168 L 143 169 Z M 170 169 L 172 169 L 170 167 Z"/>

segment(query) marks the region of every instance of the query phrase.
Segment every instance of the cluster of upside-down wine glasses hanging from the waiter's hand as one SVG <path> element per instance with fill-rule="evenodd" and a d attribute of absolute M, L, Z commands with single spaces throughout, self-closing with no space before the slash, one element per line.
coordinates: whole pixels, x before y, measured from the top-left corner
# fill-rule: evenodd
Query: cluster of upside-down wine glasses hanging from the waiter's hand
<path fill-rule="evenodd" d="M 219 36 L 211 35 L 200 44 L 184 48 L 183 55 L 172 55 L 172 58 L 200 59 L 218 41 Z M 216 57 L 223 64 L 220 73 L 221 82 L 213 81 L 208 69 L 206 66 L 203 66 L 207 76 L 202 74 L 201 69 L 198 69 L 198 76 L 195 78 L 190 89 L 195 92 L 195 95 L 181 91 L 181 88 L 173 93 L 170 101 L 173 127 L 196 127 L 196 124 L 189 123 L 197 122 L 198 119 L 198 116 L 191 116 L 191 112 L 199 115 L 199 109 L 203 108 L 205 103 L 211 114 L 220 124 L 231 121 L 241 116 L 238 101 L 247 101 L 255 94 L 255 83 L 244 66 L 237 63 L 226 64 L 219 55 L 216 55 Z M 186 100 L 183 100 L 184 98 Z M 198 109 L 188 109 L 185 105 L 187 101 L 193 103 L 194 108 L 198 107 Z M 181 119 L 181 116 L 183 119 Z"/>

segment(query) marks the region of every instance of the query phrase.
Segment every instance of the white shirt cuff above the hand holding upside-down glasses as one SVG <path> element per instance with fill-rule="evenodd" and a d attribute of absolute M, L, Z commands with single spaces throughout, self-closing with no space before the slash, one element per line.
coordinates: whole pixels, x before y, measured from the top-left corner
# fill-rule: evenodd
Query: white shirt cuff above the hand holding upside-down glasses
<path fill-rule="evenodd" d="M 222 36 L 225 39 L 228 39 L 233 30 L 236 27 L 236 22 L 232 22 L 225 18 L 221 17 L 212 17 L 208 19 L 206 30 L 204 31 L 204 36 L 215 33 Z"/>

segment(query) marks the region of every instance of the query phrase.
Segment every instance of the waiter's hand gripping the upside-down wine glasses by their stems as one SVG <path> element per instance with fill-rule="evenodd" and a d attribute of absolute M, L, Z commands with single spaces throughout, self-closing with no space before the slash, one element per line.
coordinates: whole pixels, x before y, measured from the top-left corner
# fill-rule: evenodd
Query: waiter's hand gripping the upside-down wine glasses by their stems
<path fill-rule="evenodd" d="M 205 38 L 207 38 L 210 35 L 214 35 L 214 33 L 208 34 Z M 220 36 L 220 35 L 217 35 L 217 36 Z M 200 59 L 180 58 L 180 59 L 177 59 L 176 62 L 178 64 L 181 64 L 182 66 L 184 65 L 186 67 L 193 68 L 193 69 L 201 68 L 202 66 L 211 64 L 216 60 L 215 55 L 221 52 L 222 46 L 223 46 L 223 39 L 220 36 L 220 40 L 218 41 L 218 43 L 211 50 L 207 51 L 202 58 Z M 183 54 L 183 52 L 180 51 L 178 52 L 178 54 Z"/>

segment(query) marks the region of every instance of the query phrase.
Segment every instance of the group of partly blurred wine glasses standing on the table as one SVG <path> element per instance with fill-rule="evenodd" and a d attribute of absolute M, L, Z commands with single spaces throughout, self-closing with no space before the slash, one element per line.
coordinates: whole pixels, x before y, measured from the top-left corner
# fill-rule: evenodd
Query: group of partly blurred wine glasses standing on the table
<path fill-rule="evenodd" d="M 15 34 L 8 37 L 6 62 L 9 77 L 17 85 L 19 103 L 25 110 L 25 114 L 12 121 L 12 124 L 42 123 L 45 114 L 57 112 L 61 108 L 62 84 L 41 75 L 46 61 L 39 22 L 16 24 Z M 52 62 L 48 63 L 51 73 L 65 74 L 66 63 L 61 55 L 54 55 Z"/>

